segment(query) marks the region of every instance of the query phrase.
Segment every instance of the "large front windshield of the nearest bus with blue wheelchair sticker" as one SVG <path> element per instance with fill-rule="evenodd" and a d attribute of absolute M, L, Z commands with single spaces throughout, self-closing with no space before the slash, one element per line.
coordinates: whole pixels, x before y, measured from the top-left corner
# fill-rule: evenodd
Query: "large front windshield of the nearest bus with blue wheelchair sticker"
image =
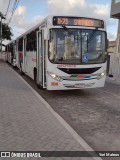
<path fill-rule="evenodd" d="M 105 62 L 106 33 L 91 29 L 50 29 L 49 60 L 62 64 Z"/>

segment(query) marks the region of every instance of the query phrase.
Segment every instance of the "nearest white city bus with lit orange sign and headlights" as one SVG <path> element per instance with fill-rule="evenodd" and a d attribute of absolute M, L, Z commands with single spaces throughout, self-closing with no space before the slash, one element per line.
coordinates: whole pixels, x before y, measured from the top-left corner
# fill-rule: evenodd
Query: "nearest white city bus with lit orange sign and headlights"
<path fill-rule="evenodd" d="M 103 20 L 48 16 L 15 40 L 18 68 L 40 88 L 67 90 L 103 87 L 107 34 Z"/>

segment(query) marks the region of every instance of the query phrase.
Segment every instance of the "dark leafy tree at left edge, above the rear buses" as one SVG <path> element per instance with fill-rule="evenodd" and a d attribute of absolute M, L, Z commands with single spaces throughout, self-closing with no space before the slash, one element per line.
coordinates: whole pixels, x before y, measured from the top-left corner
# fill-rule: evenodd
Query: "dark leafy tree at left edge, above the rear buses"
<path fill-rule="evenodd" d="M 1 25 L 1 22 L 0 22 L 0 25 Z M 11 32 L 11 28 L 3 23 L 2 24 L 2 39 L 3 40 L 11 40 L 11 37 L 13 36 L 12 32 Z"/>

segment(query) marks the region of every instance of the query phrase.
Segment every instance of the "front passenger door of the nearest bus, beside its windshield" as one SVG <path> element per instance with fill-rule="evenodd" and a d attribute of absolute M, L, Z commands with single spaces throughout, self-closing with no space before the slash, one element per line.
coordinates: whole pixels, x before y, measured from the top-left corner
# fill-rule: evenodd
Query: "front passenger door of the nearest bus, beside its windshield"
<path fill-rule="evenodd" d="M 37 32 L 37 84 L 46 88 L 44 30 Z"/>

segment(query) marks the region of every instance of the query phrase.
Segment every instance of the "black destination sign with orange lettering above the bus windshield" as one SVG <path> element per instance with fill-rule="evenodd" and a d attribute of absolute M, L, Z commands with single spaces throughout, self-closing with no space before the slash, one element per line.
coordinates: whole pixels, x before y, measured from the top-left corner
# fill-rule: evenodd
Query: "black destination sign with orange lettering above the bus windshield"
<path fill-rule="evenodd" d="M 86 26 L 104 28 L 104 22 L 98 19 L 83 17 L 53 17 L 53 25 Z"/>

